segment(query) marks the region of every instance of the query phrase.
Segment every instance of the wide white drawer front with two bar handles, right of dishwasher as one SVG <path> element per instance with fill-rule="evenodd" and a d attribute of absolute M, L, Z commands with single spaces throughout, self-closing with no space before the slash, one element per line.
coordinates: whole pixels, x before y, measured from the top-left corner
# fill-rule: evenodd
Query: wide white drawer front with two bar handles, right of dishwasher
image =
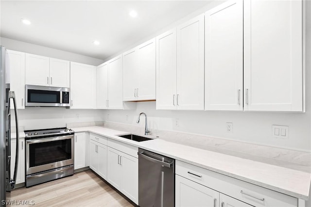
<path fill-rule="evenodd" d="M 176 160 L 175 173 L 255 207 L 297 207 L 297 198 Z"/>

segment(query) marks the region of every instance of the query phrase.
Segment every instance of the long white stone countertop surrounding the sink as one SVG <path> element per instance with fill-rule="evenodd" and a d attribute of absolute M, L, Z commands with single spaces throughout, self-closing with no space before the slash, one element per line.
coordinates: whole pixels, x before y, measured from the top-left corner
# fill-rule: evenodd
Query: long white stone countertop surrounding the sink
<path fill-rule="evenodd" d="M 159 138 L 136 142 L 116 136 L 126 134 L 127 132 L 100 126 L 72 129 L 74 132 L 91 132 L 112 138 L 296 198 L 309 199 L 311 173 L 190 147 Z"/>

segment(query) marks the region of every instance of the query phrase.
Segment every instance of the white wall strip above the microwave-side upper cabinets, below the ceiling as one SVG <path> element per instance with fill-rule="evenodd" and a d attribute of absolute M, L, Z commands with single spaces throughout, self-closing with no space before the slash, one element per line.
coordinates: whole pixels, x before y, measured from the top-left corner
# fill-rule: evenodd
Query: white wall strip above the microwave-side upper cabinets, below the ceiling
<path fill-rule="evenodd" d="M 40 45 L 35 45 L 27 42 L 21 42 L 14 39 L 0 37 L 0 45 L 4 46 L 6 49 L 27 52 L 31 54 L 37 54 L 52 58 L 58 58 L 63 60 L 69 60 L 77 63 L 84 63 L 88 65 L 98 66 L 104 63 L 103 60 L 88 57 L 81 54 L 76 54 L 72 52 L 61 51 L 53 48 L 48 48 Z"/>

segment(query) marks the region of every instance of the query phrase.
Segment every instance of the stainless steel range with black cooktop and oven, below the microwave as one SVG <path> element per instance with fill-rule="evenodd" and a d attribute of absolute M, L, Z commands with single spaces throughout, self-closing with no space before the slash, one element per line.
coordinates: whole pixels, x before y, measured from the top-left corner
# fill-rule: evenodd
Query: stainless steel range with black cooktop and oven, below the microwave
<path fill-rule="evenodd" d="M 73 174 L 74 132 L 67 128 L 25 131 L 26 187 Z"/>

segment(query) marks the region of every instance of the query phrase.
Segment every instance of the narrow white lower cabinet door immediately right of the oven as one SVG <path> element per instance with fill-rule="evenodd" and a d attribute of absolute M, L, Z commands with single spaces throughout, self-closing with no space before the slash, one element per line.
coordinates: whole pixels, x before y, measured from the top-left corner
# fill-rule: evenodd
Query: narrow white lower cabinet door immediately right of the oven
<path fill-rule="evenodd" d="M 86 167 L 86 135 L 74 133 L 74 170 Z"/>

